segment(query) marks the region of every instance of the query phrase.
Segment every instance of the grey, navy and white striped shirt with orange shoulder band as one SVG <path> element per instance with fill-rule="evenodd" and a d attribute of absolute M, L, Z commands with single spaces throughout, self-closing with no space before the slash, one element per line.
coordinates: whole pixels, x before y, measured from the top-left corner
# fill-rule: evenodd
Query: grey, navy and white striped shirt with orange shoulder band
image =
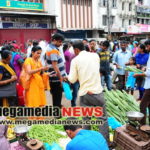
<path fill-rule="evenodd" d="M 57 66 L 59 68 L 61 76 L 66 76 L 65 65 L 59 49 L 55 45 L 49 44 L 46 52 L 46 62 L 48 65 L 50 65 L 49 72 L 54 71 L 54 68 L 52 66 L 53 61 L 57 62 Z M 50 82 L 60 82 L 60 80 L 58 77 L 51 77 Z"/>

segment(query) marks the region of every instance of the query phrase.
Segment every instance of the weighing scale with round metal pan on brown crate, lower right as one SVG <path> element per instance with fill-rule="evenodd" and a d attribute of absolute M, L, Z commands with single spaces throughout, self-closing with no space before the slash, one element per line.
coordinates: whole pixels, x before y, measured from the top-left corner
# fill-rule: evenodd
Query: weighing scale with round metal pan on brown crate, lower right
<path fill-rule="evenodd" d="M 150 126 L 140 126 L 139 121 L 144 117 L 139 112 L 128 112 L 128 123 L 115 131 L 114 142 L 122 150 L 149 150 Z"/>

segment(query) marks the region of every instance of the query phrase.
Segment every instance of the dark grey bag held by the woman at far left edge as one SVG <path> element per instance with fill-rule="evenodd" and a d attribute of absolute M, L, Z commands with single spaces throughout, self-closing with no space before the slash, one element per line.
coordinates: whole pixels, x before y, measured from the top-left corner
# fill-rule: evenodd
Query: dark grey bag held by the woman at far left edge
<path fill-rule="evenodd" d="M 16 81 L 0 86 L 0 98 L 16 96 Z"/>

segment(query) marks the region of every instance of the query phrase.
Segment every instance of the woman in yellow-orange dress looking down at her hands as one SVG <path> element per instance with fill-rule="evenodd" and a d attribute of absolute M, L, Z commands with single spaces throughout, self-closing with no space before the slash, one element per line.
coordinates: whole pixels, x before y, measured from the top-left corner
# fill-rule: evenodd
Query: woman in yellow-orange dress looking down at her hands
<path fill-rule="evenodd" d="M 23 71 L 20 75 L 20 81 L 25 88 L 25 105 L 27 107 L 46 105 L 43 76 L 44 71 L 48 70 L 48 67 L 42 67 L 39 60 L 41 52 L 42 49 L 39 46 L 32 48 L 32 56 L 25 60 Z"/>

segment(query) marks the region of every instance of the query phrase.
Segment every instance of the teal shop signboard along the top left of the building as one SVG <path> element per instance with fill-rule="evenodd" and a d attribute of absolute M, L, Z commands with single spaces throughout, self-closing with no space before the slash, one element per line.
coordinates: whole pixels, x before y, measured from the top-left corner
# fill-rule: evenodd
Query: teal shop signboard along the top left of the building
<path fill-rule="evenodd" d="M 0 8 L 43 11 L 43 3 L 0 0 Z"/>

